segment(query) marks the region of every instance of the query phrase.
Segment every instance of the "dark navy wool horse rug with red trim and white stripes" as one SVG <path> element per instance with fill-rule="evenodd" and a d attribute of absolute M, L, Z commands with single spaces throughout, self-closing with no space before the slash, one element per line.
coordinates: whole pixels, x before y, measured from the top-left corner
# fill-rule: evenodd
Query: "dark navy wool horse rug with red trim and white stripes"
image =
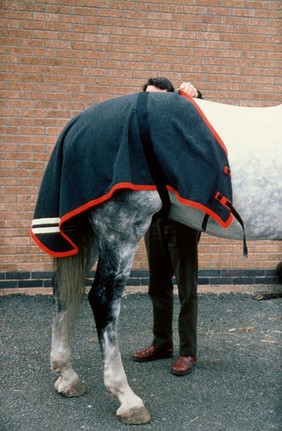
<path fill-rule="evenodd" d="M 63 129 L 31 227 L 42 250 L 57 257 L 76 254 L 82 215 L 121 190 L 158 189 L 144 141 L 165 189 L 180 205 L 197 208 L 224 228 L 232 223 L 227 150 L 200 107 L 177 92 L 134 93 L 92 106 Z"/>

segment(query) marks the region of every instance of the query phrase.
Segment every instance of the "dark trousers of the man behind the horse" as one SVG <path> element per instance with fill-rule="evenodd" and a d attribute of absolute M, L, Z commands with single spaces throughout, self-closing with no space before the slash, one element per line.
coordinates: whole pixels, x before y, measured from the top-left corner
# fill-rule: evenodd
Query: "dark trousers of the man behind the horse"
<path fill-rule="evenodd" d="M 145 235 L 153 304 L 153 345 L 173 346 L 173 284 L 180 300 L 179 355 L 197 353 L 197 279 L 200 232 L 176 221 L 159 218 Z"/>

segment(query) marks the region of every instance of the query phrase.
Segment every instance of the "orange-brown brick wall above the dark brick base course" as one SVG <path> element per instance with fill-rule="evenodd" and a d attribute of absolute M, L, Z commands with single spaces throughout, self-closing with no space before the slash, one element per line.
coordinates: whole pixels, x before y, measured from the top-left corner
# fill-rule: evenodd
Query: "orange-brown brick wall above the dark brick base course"
<path fill-rule="evenodd" d="M 192 81 L 210 100 L 281 103 L 280 1 L 2 0 L 2 274 L 49 271 L 29 226 L 56 138 L 81 110 L 150 76 Z M 276 241 L 203 235 L 201 270 L 274 270 Z M 133 268 L 146 269 L 141 242 Z M 5 277 L 6 277 L 5 275 Z M 16 278 L 16 275 L 15 275 Z"/>

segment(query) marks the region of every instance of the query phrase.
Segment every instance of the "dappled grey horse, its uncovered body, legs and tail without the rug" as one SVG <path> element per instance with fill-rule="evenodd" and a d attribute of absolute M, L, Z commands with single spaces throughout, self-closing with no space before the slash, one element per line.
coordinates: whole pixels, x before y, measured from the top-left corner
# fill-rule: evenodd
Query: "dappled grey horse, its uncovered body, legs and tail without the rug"
<path fill-rule="evenodd" d="M 244 221 L 247 239 L 281 239 L 282 105 L 243 108 L 201 100 L 196 103 L 228 149 L 233 204 Z M 201 230 L 203 217 L 199 211 L 181 205 L 173 192 L 169 195 L 169 216 Z M 66 397 L 80 396 L 86 391 L 71 365 L 70 336 L 75 310 L 84 292 L 85 275 L 98 259 L 89 301 L 104 361 L 105 386 L 119 401 L 117 415 L 126 424 L 147 423 L 150 415 L 142 399 L 130 388 L 123 369 L 117 336 L 120 302 L 138 243 L 161 207 L 155 190 L 119 191 L 89 211 L 89 225 L 81 223 L 79 253 L 54 259 L 51 366 L 58 373 L 55 388 Z M 242 239 L 236 220 L 224 229 L 210 218 L 206 231 Z"/>

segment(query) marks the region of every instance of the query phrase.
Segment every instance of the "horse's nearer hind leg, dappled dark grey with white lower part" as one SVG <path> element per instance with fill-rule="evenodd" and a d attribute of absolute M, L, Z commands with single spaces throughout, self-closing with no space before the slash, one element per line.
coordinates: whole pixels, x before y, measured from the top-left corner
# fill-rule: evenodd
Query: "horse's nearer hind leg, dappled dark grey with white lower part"
<path fill-rule="evenodd" d="M 113 199 L 91 214 L 93 228 L 99 239 L 99 264 L 89 301 L 104 360 L 105 386 L 120 402 L 117 415 L 126 424 L 144 424 L 150 421 L 143 401 L 127 382 L 117 336 L 121 295 L 134 253 L 149 226 L 152 212 L 157 211 L 160 205 L 158 197 L 150 207 L 150 202 L 145 205 L 144 199 L 139 204 L 138 196 L 140 195 L 129 194 L 127 200 L 122 195 L 120 200 Z"/>

